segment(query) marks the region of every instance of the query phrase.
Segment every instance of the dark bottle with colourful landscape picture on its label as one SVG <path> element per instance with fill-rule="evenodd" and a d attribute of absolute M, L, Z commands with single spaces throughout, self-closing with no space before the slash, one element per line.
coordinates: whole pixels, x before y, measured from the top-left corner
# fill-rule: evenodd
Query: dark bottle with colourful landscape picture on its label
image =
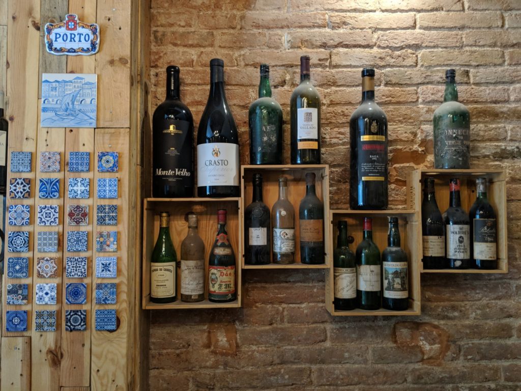
<path fill-rule="evenodd" d="M 407 254 L 400 247 L 398 217 L 389 217 L 387 248 L 382 252 L 383 298 L 386 310 L 405 311 L 409 307 Z"/>

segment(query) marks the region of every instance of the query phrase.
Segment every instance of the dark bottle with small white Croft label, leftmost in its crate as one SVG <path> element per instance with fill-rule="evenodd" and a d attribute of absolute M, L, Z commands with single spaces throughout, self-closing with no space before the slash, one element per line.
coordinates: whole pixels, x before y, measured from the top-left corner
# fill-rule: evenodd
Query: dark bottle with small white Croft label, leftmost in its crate
<path fill-rule="evenodd" d="M 271 231 L 269 207 L 262 199 L 262 175 L 253 175 L 253 200 L 244 211 L 244 263 L 270 263 Z"/>

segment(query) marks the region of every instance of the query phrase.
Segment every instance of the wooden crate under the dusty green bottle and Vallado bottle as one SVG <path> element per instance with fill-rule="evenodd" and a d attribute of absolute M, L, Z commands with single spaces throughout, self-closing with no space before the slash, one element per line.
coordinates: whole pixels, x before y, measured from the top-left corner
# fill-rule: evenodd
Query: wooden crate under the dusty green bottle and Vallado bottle
<path fill-rule="evenodd" d="M 295 210 L 295 263 L 290 265 L 279 265 L 270 263 L 268 265 L 246 265 L 244 256 L 241 257 L 242 267 L 245 269 L 317 269 L 329 268 L 330 256 L 327 243 L 330 241 L 327 229 L 327 216 L 329 215 L 329 166 L 319 165 L 245 165 L 241 166 L 241 221 L 244 227 L 244 211 L 246 206 L 252 202 L 253 175 L 259 173 L 263 177 L 263 200 L 271 208 L 279 198 L 279 177 L 288 178 L 288 199 Z M 299 205 L 306 194 L 306 173 L 315 173 L 317 197 L 324 202 L 324 251 L 325 263 L 320 265 L 307 265 L 300 262 L 300 234 L 299 234 Z M 271 234 L 271 233 L 270 233 Z M 241 253 L 244 254 L 244 230 L 241 231 L 242 244 Z M 271 256 L 271 255 L 270 255 Z"/>

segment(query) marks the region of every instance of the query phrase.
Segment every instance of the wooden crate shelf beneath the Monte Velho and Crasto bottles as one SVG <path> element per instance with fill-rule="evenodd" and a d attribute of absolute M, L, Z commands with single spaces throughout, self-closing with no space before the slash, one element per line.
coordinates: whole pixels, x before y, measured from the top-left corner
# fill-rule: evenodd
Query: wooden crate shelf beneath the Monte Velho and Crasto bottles
<path fill-rule="evenodd" d="M 208 301 L 208 259 L 217 232 L 217 210 L 226 209 L 227 230 L 235 259 L 237 260 L 237 300 L 230 303 Z M 146 310 L 159 309 L 204 309 L 241 307 L 241 199 L 237 198 L 147 198 L 143 201 L 143 291 L 142 307 Z M 181 242 L 188 232 L 185 217 L 188 212 L 197 214 L 199 235 L 205 243 L 205 300 L 196 303 L 182 302 L 180 299 L 181 274 L 177 274 L 177 300 L 173 303 L 157 304 L 150 301 L 150 258 L 159 233 L 159 213 L 170 213 L 170 236 L 180 260 Z"/>

